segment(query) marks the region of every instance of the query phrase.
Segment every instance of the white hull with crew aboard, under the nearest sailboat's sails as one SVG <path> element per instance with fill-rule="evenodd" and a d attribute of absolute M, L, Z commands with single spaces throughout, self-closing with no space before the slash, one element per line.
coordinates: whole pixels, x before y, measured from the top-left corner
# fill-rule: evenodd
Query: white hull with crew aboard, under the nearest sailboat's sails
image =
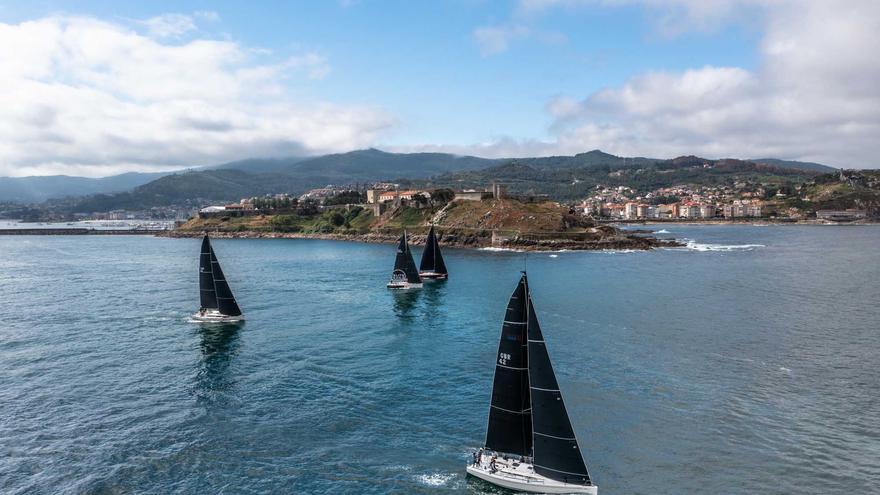
<path fill-rule="evenodd" d="M 576 485 L 545 478 L 536 473 L 528 462 L 504 460 L 499 457 L 495 461 L 495 467 L 496 470 L 493 473 L 489 468 L 489 458 L 483 455 L 483 461 L 478 466 L 469 465 L 467 472 L 493 485 L 521 492 L 588 493 L 591 495 L 597 495 L 599 492 L 599 487 L 595 485 Z"/>

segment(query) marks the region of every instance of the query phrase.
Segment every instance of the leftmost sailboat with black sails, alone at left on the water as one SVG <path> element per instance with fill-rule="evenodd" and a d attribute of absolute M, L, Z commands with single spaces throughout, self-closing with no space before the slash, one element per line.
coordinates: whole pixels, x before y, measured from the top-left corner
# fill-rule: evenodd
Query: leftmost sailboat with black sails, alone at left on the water
<path fill-rule="evenodd" d="M 202 239 L 199 256 L 199 299 L 201 308 L 192 316 L 196 321 L 225 323 L 244 320 L 207 234 Z"/>

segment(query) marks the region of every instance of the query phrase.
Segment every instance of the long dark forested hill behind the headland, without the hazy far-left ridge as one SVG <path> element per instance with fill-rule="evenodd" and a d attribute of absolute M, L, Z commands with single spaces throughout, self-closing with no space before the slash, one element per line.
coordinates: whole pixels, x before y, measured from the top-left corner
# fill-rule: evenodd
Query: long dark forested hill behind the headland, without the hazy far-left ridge
<path fill-rule="evenodd" d="M 209 170 L 168 175 L 132 191 L 86 198 L 74 205 L 73 211 L 199 205 L 271 193 L 300 194 L 327 184 L 370 181 L 455 189 L 485 187 L 500 181 L 509 184 L 514 192 L 549 194 L 556 199 L 569 200 L 584 197 L 597 184 L 650 189 L 682 183 L 723 183 L 743 178 L 797 183 L 817 174 L 812 170 L 790 167 L 694 156 L 672 160 L 622 158 L 599 150 L 573 156 L 486 159 L 369 149 L 305 159 L 248 160 Z"/>

